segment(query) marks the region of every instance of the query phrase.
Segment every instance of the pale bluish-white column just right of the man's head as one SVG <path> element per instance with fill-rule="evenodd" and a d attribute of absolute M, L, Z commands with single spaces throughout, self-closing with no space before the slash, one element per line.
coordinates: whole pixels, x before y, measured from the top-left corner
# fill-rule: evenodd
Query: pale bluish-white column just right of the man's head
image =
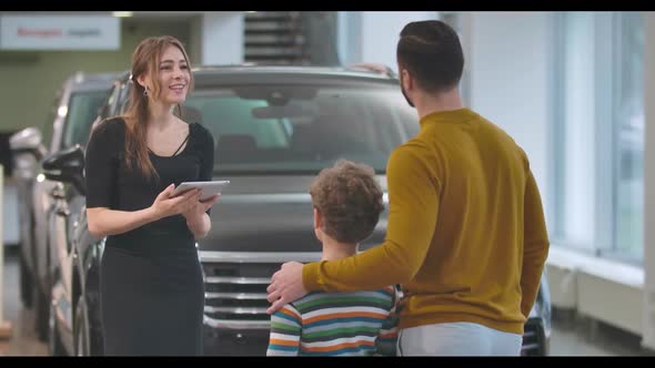
<path fill-rule="evenodd" d="M 470 106 L 525 150 L 546 213 L 550 17 L 548 12 L 471 12 L 462 24 L 470 29 L 461 30 Z"/>

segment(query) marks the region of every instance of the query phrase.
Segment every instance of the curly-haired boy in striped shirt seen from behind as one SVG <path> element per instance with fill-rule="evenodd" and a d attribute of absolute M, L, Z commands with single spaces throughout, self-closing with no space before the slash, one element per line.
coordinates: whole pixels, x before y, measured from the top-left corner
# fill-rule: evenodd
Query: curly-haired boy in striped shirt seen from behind
<path fill-rule="evenodd" d="M 310 187 L 322 259 L 353 256 L 384 209 L 372 167 L 340 160 Z M 395 286 L 369 292 L 316 292 L 271 316 L 268 356 L 395 355 Z"/>

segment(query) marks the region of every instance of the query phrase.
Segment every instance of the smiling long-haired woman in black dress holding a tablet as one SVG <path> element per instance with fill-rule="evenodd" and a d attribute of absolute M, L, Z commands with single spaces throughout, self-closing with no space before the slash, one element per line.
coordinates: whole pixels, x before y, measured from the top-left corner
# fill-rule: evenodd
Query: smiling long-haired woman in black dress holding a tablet
<path fill-rule="evenodd" d="M 87 146 L 89 231 L 108 236 L 100 269 L 105 355 L 201 355 L 204 289 L 195 239 L 214 196 L 175 185 L 210 181 L 214 141 L 173 114 L 192 89 L 174 38 L 143 40 L 132 55 L 130 108 Z"/>

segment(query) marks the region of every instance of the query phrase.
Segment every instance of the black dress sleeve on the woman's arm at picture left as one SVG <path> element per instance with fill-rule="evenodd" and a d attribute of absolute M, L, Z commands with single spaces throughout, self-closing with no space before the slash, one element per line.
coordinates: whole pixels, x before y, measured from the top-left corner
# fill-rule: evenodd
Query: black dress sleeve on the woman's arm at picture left
<path fill-rule="evenodd" d="M 113 121 L 103 121 L 91 133 L 84 157 L 84 178 L 87 182 L 87 208 L 112 205 L 115 183 L 114 157 L 117 139 Z"/>

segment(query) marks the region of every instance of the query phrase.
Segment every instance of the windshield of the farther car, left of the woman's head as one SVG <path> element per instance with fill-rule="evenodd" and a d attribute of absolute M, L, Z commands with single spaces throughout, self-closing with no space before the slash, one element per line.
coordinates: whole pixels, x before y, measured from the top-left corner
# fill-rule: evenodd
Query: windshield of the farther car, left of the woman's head
<path fill-rule="evenodd" d="M 87 144 L 91 124 L 95 116 L 98 116 L 100 108 L 105 100 L 107 90 L 71 93 L 62 147 L 70 147 L 74 144 Z"/>

